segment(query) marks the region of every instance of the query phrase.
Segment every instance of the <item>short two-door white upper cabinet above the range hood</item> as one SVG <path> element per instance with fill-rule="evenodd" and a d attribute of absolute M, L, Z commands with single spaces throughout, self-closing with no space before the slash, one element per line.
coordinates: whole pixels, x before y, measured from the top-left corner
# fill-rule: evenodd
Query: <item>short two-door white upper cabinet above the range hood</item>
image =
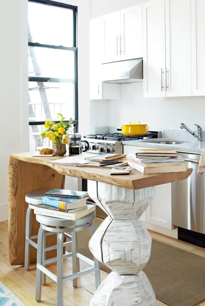
<path fill-rule="evenodd" d="M 103 63 L 142 57 L 142 4 L 102 17 Z"/>

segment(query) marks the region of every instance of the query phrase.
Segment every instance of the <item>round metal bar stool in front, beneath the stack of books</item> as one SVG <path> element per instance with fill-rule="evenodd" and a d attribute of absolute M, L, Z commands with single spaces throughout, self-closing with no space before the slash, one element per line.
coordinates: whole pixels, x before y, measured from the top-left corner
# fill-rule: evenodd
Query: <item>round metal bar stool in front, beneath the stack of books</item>
<path fill-rule="evenodd" d="M 78 277 L 91 272 L 95 272 L 96 289 L 100 285 L 100 268 L 98 260 L 94 258 L 93 261 L 83 256 L 78 252 L 77 248 L 77 232 L 89 228 L 93 234 L 95 232 L 95 227 L 93 226 L 94 218 L 95 218 L 95 212 L 76 221 L 53 218 L 43 215 L 36 215 L 36 220 L 40 223 L 40 229 L 38 232 L 37 271 L 36 271 L 37 302 L 40 302 L 41 299 L 42 273 L 46 274 L 52 280 L 57 282 L 57 306 L 63 306 L 63 282 L 67 282 L 68 280 L 72 279 L 73 286 L 77 287 Z M 48 226 L 56 226 L 56 228 Z M 45 231 L 57 234 L 57 245 L 53 245 L 51 247 L 45 247 L 44 244 Z M 67 234 L 68 232 L 71 232 L 71 236 Z M 63 243 L 64 236 L 66 236 L 69 239 L 71 238 L 71 241 Z M 63 254 L 63 247 L 67 246 L 70 243 L 72 246 L 72 252 Z M 44 253 L 54 248 L 57 248 L 57 257 L 45 260 Z M 63 259 L 71 256 L 73 263 L 73 269 L 72 269 L 73 274 L 63 277 Z M 93 267 L 80 272 L 79 264 L 77 264 L 77 262 L 79 262 L 79 258 Z M 54 261 L 57 261 L 57 275 L 51 273 L 45 267 L 46 264 Z"/>

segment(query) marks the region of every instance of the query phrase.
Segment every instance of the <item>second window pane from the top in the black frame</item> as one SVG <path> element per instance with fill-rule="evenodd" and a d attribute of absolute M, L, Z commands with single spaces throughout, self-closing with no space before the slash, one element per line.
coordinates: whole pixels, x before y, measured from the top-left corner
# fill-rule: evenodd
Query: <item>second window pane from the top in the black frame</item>
<path fill-rule="evenodd" d="M 28 76 L 65 78 L 74 82 L 74 51 L 29 46 Z"/>

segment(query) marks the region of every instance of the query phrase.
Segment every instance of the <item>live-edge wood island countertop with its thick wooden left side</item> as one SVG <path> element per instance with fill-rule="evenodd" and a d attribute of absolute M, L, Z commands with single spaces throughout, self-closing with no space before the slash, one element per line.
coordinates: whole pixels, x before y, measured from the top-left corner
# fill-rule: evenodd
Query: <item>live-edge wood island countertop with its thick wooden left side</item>
<path fill-rule="evenodd" d="M 89 153 L 83 153 L 90 156 Z M 9 260 L 11 265 L 23 265 L 25 254 L 25 223 L 28 203 L 25 195 L 29 192 L 64 188 L 65 175 L 80 177 L 91 181 L 98 181 L 129 189 L 166 184 L 186 179 L 192 169 L 186 172 L 142 174 L 132 170 L 129 175 L 110 175 L 110 169 L 88 168 L 77 166 L 61 166 L 51 164 L 49 161 L 59 157 L 32 157 L 34 152 L 11 154 L 8 168 L 8 194 L 9 194 Z M 67 156 L 65 156 L 67 157 Z M 39 223 L 34 215 L 31 218 L 31 235 L 37 235 Z M 34 239 L 37 242 L 37 239 Z M 46 246 L 56 244 L 56 235 L 46 237 Z M 56 250 L 46 252 L 46 258 L 56 256 Z M 30 263 L 36 262 L 36 249 L 31 246 Z"/>

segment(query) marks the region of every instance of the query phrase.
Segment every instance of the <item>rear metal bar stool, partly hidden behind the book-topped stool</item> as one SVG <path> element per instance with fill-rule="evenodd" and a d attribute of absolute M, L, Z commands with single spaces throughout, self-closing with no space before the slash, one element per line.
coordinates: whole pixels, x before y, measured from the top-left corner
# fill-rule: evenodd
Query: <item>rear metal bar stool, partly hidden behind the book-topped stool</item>
<path fill-rule="evenodd" d="M 34 192 L 30 192 L 25 196 L 25 201 L 28 203 L 28 209 L 26 212 L 26 238 L 25 238 L 25 262 L 24 268 L 25 271 L 29 271 L 30 265 L 30 245 L 37 249 L 37 243 L 32 241 L 32 239 L 36 239 L 38 235 L 31 236 L 31 213 L 32 209 L 36 207 L 37 204 L 42 204 L 42 197 L 45 196 L 45 193 L 50 189 L 38 190 Z M 46 233 L 45 236 L 53 235 L 54 233 Z M 45 245 L 45 237 L 44 237 L 44 245 Z M 42 285 L 46 283 L 46 276 L 42 277 Z"/>

